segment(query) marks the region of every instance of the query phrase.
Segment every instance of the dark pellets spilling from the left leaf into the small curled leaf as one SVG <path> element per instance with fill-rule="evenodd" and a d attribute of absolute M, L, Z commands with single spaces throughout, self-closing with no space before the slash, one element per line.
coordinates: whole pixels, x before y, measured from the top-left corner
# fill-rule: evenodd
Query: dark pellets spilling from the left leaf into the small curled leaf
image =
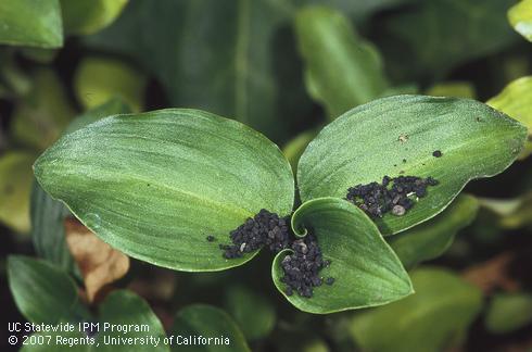
<path fill-rule="evenodd" d="M 288 222 L 288 217 L 279 217 L 263 209 L 253 218 L 248 218 L 244 224 L 230 231 L 232 244 L 219 244 L 219 248 L 226 259 L 241 257 L 262 247 L 274 253 L 291 249 L 293 253 L 287 254 L 281 262 L 284 276 L 280 280 L 287 286 L 284 293 L 292 296 L 297 292 L 302 297 L 311 298 L 314 287 L 321 286 L 324 281 L 328 285 L 334 282 L 332 277 L 324 279 L 319 276 L 321 268 L 330 265 L 330 261 L 324 261 L 313 235 L 295 238 Z M 213 236 L 207 236 L 207 241 L 214 240 Z"/>

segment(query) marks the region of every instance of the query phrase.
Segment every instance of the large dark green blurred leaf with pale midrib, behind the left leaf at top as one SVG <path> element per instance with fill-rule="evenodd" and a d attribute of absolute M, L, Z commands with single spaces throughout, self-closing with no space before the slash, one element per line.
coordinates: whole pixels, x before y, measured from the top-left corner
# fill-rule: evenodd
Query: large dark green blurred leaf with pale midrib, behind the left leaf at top
<path fill-rule="evenodd" d="M 132 1 L 115 25 L 88 41 L 138 58 L 170 104 L 233 116 L 278 137 L 287 126 L 276 108 L 282 61 L 274 61 L 271 48 L 289 15 L 282 1 Z"/>

